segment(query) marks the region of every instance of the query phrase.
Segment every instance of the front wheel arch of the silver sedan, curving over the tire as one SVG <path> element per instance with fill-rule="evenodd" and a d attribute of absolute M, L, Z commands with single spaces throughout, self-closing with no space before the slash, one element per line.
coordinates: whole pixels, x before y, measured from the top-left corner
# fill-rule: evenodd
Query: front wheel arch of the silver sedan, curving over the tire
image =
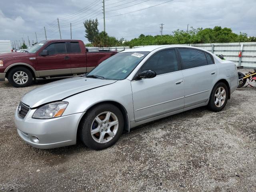
<path fill-rule="evenodd" d="M 86 109 L 86 112 L 84 113 L 84 115 L 82 116 L 82 118 L 80 119 L 80 122 L 78 124 L 78 128 L 80 127 L 80 123 L 82 122 L 82 119 L 84 118 L 84 116 L 86 115 L 86 113 L 88 111 L 90 111 L 91 108 L 95 107 L 95 106 L 98 106 L 98 105 L 101 105 L 101 104 L 113 104 L 114 106 L 116 106 L 118 109 L 120 109 L 120 111 L 122 112 L 122 115 L 124 117 L 124 130 L 130 132 L 130 118 L 129 118 L 129 115 L 127 113 L 127 110 L 126 108 L 124 108 L 124 106 L 122 104 L 120 104 L 119 102 L 116 102 L 116 101 L 111 101 L 111 100 L 108 100 L 108 101 L 101 101 L 101 102 L 98 102 L 98 103 L 95 103 L 93 105 L 91 105 L 88 109 Z M 76 138 L 78 138 L 78 134 L 79 134 L 79 131 L 77 130 L 76 132 Z"/>

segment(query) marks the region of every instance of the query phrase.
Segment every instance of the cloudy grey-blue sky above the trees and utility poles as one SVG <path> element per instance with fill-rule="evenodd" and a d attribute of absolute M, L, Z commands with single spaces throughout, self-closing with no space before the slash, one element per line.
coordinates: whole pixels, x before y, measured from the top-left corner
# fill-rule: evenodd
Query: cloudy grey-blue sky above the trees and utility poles
<path fill-rule="evenodd" d="M 256 36 L 256 0 L 105 0 L 106 32 L 126 40 L 140 34 L 172 34 L 176 29 L 222 26 L 236 33 Z M 44 40 L 44 26 L 48 39 L 60 38 L 57 18 L 60 20 L 62 39 L 72 38 L 84 42 L 83 21 L 99 19 L 103 30 L 102 0 L 1 0 L 0 40 L 20 40 L 28 44 Z M 167 2 L 165 4 L 161 4 Z M 158 5 L 161 4 L 161 5 Z M 158 5 L 158 6 L 154 6 Z M 150 6 L 154 6 L 148 8 Z M 146 9 L 144 9 L 146 8 Z M 141 10 L 144 9 L 144 10 Z M 140 11 L 136 11 L 140 10 Z M 136 12 L 134 12 L 136 11 Z M 126 14 L 128 12 L 133 12 Z M 120 15 L 123 14 L 123 15 Z M 118 15 L 118 16 L 116 16 Z"/>

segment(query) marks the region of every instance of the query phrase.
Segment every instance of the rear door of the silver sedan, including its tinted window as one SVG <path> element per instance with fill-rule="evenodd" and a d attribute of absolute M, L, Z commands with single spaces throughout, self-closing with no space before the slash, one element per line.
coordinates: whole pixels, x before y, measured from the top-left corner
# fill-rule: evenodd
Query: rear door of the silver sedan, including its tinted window
<path fill-rule="evenodd" d="M 184 108 L 206 102 L 218 78 L 212 56 L 193 48 L 178 48 L 178 51 L 184 76 Z"/>

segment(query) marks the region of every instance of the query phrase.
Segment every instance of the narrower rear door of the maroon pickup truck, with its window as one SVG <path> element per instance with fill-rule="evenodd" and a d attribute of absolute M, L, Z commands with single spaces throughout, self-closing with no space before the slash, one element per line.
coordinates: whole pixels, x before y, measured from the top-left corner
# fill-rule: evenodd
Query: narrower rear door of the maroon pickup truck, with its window
<path fill-rule="evenodd" d="M 72 74 L 86 73 L 86 54 L 82 54 L 78 41 L 68 42 L 68 53 Z"/>

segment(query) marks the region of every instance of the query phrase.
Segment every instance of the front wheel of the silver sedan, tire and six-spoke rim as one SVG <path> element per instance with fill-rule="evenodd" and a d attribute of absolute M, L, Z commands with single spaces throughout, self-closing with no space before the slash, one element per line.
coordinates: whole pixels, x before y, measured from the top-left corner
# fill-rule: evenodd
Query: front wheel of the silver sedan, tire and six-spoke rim
<path fill-rule="evenodd" d="M 115 144 L 123 130 L 122 112 L 112 104 L 102 104 L 88 111 L 80 122 L 78 134 L 86 146 L 102 150 Z"/>

